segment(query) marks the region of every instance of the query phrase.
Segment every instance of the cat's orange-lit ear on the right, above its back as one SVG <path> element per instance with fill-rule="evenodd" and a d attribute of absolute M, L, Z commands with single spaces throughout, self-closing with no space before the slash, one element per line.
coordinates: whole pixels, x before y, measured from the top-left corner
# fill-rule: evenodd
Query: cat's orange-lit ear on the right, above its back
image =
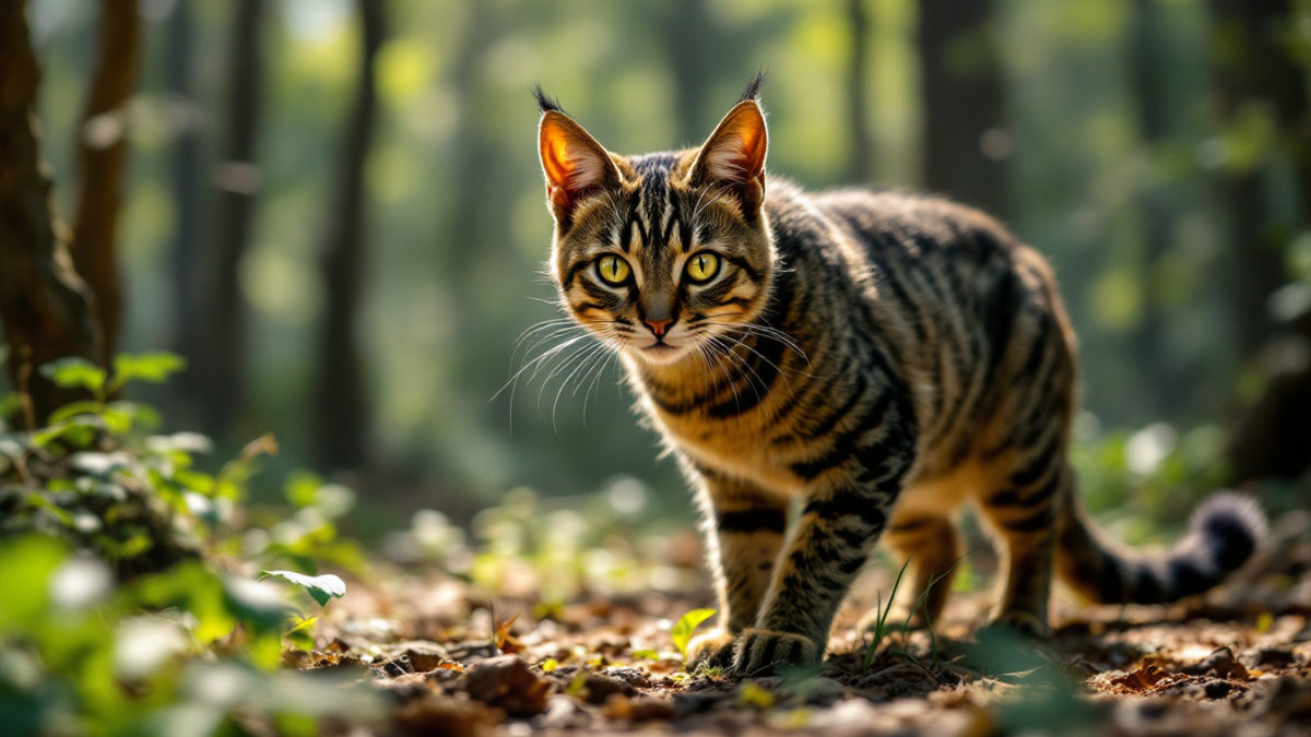
<path fill-rule="evenodd" d="M 738 102 L 696 152 L 688 174 L 691 184 L 726 186 L 742 202 L 743 214 L 754 212 L 764 201 L 768 142 L 760 105 L 755 100 Z"/>

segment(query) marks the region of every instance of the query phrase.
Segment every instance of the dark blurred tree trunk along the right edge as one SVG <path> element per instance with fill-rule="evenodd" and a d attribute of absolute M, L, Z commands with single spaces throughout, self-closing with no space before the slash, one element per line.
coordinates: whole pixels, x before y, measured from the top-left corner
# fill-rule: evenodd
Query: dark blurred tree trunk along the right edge
<path fill-rule="evenodd" d="M 1311 10 L 1290 0 L 1215 0 L 1213 9 L 1226 143 L 1238 148 L 1253 121 L 1269 131 L 1251 160 L 1231 156 L 1222 180 L 1238 247 L 1227 296 L 1243 355 L 1266 379 L 1234 426 L 1228 456 L 1238 481 L 1294 479 L 1311 468 L 1311 315 L 1303 307 L 1280 325 L 1272 296 L 1289 278 L 1286 247 L 1311 226 L 1311 73 L 1289 37 Z M 1281 207 L 1290 184 L 1293 207 Z"/>

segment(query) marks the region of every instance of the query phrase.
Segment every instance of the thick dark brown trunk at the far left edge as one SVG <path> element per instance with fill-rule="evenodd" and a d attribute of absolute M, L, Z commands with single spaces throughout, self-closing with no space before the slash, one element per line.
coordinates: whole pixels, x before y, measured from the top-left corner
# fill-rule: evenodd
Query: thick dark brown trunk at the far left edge
<path fill-rule="evenodd" d="M 0 327 L 13 386 L 26 389 L 30 424 L 75 395 L 34 368 L 56 358 L 101 355 L 89 292 L 73 270 L 41 159 L 26 3 L 0 3 Z"/>

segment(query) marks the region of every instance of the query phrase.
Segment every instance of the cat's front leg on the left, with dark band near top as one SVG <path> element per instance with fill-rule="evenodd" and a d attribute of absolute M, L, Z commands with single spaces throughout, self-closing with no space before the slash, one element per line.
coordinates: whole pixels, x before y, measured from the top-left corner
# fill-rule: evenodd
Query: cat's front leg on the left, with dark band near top
<path fill-rule="evenodd" d="M 688 661 L 694 667 L 728 667 L 738 633 L 755 624 L 770 588 L 787 528 L 787 502 L 746 481 L 709 471 L 699 476 L 697 501 L 720 614 L 718 626 L 688 645 Z"/>

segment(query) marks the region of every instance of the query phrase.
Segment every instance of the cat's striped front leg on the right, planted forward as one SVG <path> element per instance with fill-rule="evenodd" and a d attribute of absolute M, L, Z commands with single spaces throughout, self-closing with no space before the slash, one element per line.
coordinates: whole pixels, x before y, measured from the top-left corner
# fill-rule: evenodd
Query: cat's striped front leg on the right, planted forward
<path fill-rule="evenodd" d="M 756 627 L 737 639 L 733 671 L 755 675 L 823 657 L 832 618 L 886 526 L 901 476 L 810 497 Z"/>

